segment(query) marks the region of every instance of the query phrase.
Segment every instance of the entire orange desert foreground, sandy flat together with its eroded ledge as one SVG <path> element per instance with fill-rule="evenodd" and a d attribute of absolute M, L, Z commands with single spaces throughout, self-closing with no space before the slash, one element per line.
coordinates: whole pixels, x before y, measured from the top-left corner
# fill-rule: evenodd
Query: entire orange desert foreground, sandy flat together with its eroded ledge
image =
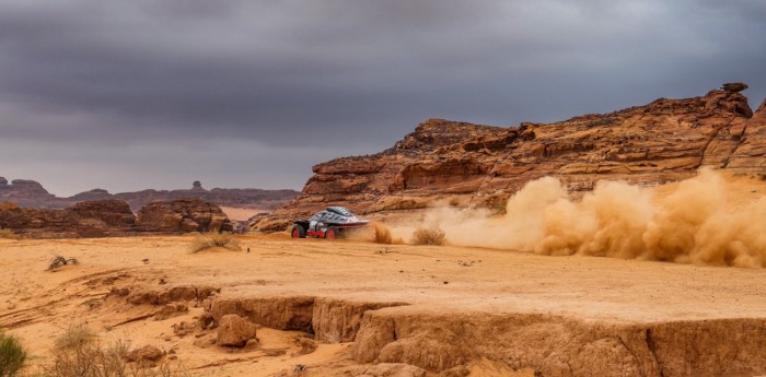
<path fill-rule="evenodd" d="M 741 207 L 764 187 L 753 178 L 728 182 L 739 187 L 733 202 Z M 241 251 L 192 254 L 193 237 L 0 239 L 0 328 L 22 339 L 33 364 L 46 362 L 69 326 L 86 323 L 105 340 L 172 351 L 192 376 L 287 376 L 299 365 L 303 376 L 355 376 L 386 361 L 418 365 L 428 376 L 461 364 L 469 376 L 766 373 L 763 269 L 287 234 L 237 236 Z M 79 264 L 46 271 L 57 255 Z M 160 306 L 113 292 L 187 285 L 220 293 L 156 320 Z M 289 330 L 303 314 L 288 311 L 301 303 L 310 305 L 313 329 Z M 348 314 L 359 305 L 372 305 L 361 319 Z M 174 331 L 206 310 L 262 318 L 259 343 L 232 350 L 210 344 L 214 330 Z M 382 341 L 386 321 L 395 329 Z M 304 339 L 316 350 L 302 351 Z M 419 349 L 426 351 L 414 353 Z"/>

